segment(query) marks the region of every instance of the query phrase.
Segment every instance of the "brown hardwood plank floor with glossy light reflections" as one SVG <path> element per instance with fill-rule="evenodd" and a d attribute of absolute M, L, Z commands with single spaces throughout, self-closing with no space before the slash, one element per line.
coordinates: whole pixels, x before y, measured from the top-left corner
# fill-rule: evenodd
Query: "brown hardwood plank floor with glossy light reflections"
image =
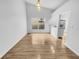
<path fill-rule="evenodd" d="M 2 59 L 79 59 L 50 34 L 32 33 L 24 37 Z"/>

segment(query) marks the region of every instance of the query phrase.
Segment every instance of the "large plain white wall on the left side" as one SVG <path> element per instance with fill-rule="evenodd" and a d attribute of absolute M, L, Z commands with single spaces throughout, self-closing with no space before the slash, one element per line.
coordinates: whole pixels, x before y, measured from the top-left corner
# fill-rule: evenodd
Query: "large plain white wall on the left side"
<path fill-rule="evenodd" d="M 0 58 L 26 33 L 26 10 L 23 1 L 0 0 Z"/>

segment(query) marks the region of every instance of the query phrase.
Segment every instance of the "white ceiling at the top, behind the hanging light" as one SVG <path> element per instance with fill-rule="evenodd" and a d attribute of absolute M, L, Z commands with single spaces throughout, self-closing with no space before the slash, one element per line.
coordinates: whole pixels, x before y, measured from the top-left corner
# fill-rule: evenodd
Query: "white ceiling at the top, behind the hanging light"
<path fill-rule="evenodd" d="M 31 4 L 36 4 L 36 0 L 26 0 L 26 1 Z M 50 9 L 55 9 L 66 1 L 68 0 L 41 0 L 41 6 Z"/>

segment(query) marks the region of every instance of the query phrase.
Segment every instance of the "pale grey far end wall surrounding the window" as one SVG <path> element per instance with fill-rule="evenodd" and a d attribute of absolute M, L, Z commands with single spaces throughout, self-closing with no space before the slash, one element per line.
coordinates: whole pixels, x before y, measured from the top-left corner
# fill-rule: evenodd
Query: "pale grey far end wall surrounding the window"
<path fill-rule="evenodd" d="M 48 20 L 50 20 L 51 12 L 50 9 L 47 8 L 41 8 L 40 11 L 37 10 L 37 8 L 32 4 L 27 4 L 27 31 L 28 33 L 31 32 L 49 32 L 49 24 Z M 45 29 L 44 30 L 35 30 L 32 29 L 32 18 L 44 18 L 45 19 Z"/>

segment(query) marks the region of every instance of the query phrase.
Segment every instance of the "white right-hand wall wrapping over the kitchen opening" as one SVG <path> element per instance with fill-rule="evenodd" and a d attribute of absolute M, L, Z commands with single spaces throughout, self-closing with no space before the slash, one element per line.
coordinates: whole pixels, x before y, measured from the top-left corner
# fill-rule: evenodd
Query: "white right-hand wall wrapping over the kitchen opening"
<path fill-rule="evenodd" d="M 69 47 L 73 52 L 79 55 L 79 0 L 69 0 L 65 5 L 60 7 L 53 14 L 56 20 L 60 14 L 71 11 L 70 17 L 67 19 L 68 27 L 66 29 L 67 39 L 66 46 Z"/>

